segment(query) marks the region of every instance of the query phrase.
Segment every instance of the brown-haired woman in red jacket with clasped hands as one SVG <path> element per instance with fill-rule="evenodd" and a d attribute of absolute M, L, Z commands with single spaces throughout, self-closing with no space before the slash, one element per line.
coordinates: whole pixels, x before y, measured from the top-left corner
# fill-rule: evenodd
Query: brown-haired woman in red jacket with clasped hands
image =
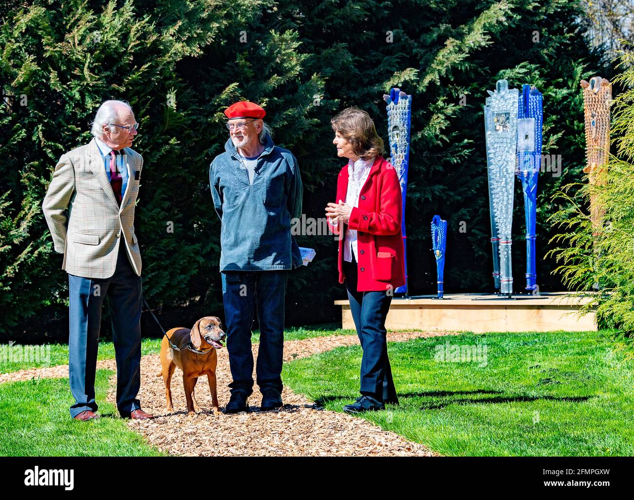
<path fill-rule="evenodd" d="M 339 239 L 339 282 L 363 349 L 361 397 L 344 411 L 358 413 L 398 404 L 387 359 L 385 318 L 394 289 L 405 284 L 401 185 L 385 161 L 383 140 L 365 111 L 348 108 L 331 120 L 337 155 L 348 159 L 337 180 L 337 203 L 326 216 Z"/>

